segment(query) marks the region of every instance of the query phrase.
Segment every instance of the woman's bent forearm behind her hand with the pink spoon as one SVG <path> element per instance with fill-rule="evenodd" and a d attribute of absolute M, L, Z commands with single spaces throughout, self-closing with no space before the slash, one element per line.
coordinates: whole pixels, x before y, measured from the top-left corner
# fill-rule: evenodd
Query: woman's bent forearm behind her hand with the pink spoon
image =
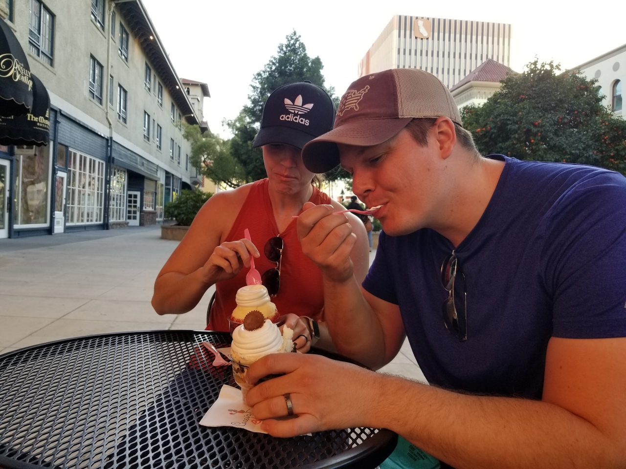
<path fill-rule="evenodd" d="M 160 315 L 187 313 L 195 308 L 209 286 L 203 281 L 200 269 L 189 275 L 168 272 L 155 282 L 152 307 Z"/>

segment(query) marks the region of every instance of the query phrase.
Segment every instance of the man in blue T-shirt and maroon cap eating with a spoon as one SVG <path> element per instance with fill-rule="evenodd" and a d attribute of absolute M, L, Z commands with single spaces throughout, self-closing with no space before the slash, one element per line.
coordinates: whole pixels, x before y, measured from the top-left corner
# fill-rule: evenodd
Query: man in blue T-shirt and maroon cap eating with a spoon
<path fill-rule="evenodd" d="M 626 466 L 626 179 L 589 166 L 483 158 L 431 74 L 354 82 L 334 129 L 303 149 L 341 161 L 383 205 L 362 286 L 349 224 L 298 220 L 324 276 L 337 350 L 379 368 L 405 334 L 431 385 L 325 360 L 267 356 L 247 402 L 272 435 L 384 427 L 456 468 Z M 505 149 L 503 149 L 505 150 Z"/>

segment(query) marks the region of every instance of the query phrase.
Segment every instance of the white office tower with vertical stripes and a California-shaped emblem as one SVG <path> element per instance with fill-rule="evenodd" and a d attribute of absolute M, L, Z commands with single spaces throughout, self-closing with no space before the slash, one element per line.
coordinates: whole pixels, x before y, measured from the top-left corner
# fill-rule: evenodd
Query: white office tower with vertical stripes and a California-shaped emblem
<path fill-rule="evenodd" d="M 510 66 L 510 24 L 398 14 L 361 59 L 358 74 L 417 68 L 452 88 L 487 59 Z"/>

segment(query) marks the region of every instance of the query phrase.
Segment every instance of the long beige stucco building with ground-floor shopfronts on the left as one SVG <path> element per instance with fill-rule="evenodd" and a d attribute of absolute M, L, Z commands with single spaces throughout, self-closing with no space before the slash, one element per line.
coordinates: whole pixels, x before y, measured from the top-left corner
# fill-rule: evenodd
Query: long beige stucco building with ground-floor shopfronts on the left
<path fill-rule="evenodd" d="M 15 181 L 9 236 L 163 219 L 197 186 L 182 121 L 208 129 L 207 84 L 187 93 L 141 0 L 1 3 L 51 101 L 48 146 L 0 148 Z"/>

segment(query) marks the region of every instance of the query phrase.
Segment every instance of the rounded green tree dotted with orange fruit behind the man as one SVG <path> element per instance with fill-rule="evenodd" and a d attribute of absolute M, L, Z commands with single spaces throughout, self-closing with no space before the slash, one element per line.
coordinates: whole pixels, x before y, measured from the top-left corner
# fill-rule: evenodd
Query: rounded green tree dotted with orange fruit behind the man
<path fill-rule="evenodd" d="M 596 80 L 538 61 L 481 106 L 461 109 L 483 154 L 602 166 L 626 174 L 626 121 L 612 116 Z"/>

